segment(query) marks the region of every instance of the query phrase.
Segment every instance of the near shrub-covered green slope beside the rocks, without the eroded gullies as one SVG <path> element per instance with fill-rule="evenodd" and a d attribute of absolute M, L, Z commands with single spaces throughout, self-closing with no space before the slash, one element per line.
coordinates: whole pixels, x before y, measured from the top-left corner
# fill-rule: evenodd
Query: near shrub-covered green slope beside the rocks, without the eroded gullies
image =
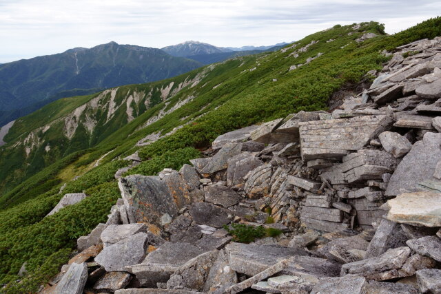
<path fill-rule="evenodd" d="M 376 30 L 376 25 L 371 25 L 369 30 Z M 300 54 L 298 59 L 287 57 L 293 51 L 289 50 L 285 54 L 274 52 L 256 56 L 256 59 L 245 58 L 223 63 L 216 70 L 220 70 L 222 66 L 229 67 L 227 73 L 216 74 L 216 70 L 211 72 L 211 79 L 200 83 L 197 98 L 184 107 L 136 131 L 145 120 L 161 109 L 160 103 L 121 127 L 118 132 L 107 136 L 94 150 L 83 151 L 87 153 L 86 156 L 76 154 L 76 157 L 66 158 L 65 162 L 58 162 L 59 166 L 44 169 L 23 182 L 14 193 L 8 194 L 8 197 L 18 201 L 0 211 L 0 232 L 7 232 L 0 234 L 0 282 L 10 282 L 6 292 L 34 291 L 35 286 L 56 271 L 58 264 L 65 262 L 66 253 L 74 247 L 74 240 L 105 220 L 108 209 L 119 196 L 116 182 L 112 180 L 113 173 L 125 164 L 119 160 L 111 160 L 134 151 L 134 143 L 139 138 L 158 130 L 168 132 L 187 120 L 207 113 L 172 136 L 141 149 L 141 156 L 151 160 L 143 162 L 133 172 L 154 174 L 162 167 L 178 166 L 189 158 L 198 156 L 194 148 L 207 146 L 216 136 L 229 130 L 278 118 L 290 112 L 325 109 L 327 98 L 340 85 L 349 81 L 356 82 L 367 71 L 381 68 L 381 63 L 386 60 L 380 54 L 382 50 L 440 35 L 441 19 L 431 19 L 394 36 L 380 36 L 362 44 L 351 43 L 340 50 L 342 45 L 346 45 L 354 37 L 349 38 L 347 31 L 345 27 L 336 27 L 334 30 L 308 36 L 300 41 L 298 48 L 312 40 L 320 42 Z M 336 38 L 338 39 L 335 43 L 326 43 L 327 40 Z M 325 54 L 309 65 L 288 72 L 290 65 L 304 63 L 307 57 L 316 56 L 318 52 Z M 245 65 L 242 66 L 245 68 L 240 67 L 243 61 Z M 249 69 L 258 63 L 260 65 L 256 70 L 250 72 Z M 243 72 L 245 69 L 247 71 Z M 272 82 L 273 78 L 278 81 Z M 212 90 L 219 83 L 222 84 Z M 177 102 L 180 97 L 178 95 L 173 99 Z M 103 159 L 104 165 L 92 169 L 79 180 L 69 182 L 64 191 L 68 193 L 85 190 L 90 195 L 86 198 L 87 201 L 62 209 L 51 218 L 42 220 L 61 195 L 57 193 L 60 182 L 47 185 L 47 180 L 40 182 L 39 178 L 45 176 L 48 180 L 54 180 L 65 167 L 90 165 L 113 148 Z M 20 199 L 26 193 L 28 196 L 23 202 Z M 4 199 L 3 197 L 2 200 Z M 28 261 L 31 275 L 21 284 L 17 284 L 14 282 L 17 279 L 16 274 L 25 261 Z"/>

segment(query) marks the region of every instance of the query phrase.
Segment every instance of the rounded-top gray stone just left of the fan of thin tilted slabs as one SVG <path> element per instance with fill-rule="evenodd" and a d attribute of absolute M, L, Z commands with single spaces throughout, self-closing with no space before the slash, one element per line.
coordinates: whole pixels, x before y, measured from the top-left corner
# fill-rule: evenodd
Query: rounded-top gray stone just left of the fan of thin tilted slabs
<path fill-rule="evenodd" d="M 241 183 L 245 183 L 244 177 L 252 171 L 263 165 L 263 162 L 246 152 L 241 153 L 228 160 L 227 168 L 227 186 L 231 187 Z"/>

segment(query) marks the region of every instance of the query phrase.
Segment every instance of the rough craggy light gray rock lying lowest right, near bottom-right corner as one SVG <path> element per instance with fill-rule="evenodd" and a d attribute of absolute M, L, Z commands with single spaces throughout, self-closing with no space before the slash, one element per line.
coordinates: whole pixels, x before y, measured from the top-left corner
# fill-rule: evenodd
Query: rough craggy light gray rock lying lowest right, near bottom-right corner
<path fill-rule="evenodd" d="M 420 269 L 430 269 L 435 261 L 419 254 L 411 254 L 409 247 L 389 249 L 376 258 L 343 264 L 341 275 L 360 275 L 368 280 L 391 280 L 409 277 Z"/>

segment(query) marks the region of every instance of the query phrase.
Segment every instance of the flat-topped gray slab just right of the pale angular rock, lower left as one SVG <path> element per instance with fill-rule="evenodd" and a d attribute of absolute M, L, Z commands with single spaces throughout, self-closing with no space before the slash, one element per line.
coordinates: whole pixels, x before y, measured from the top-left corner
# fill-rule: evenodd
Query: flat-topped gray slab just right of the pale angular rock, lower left
<path fill-rule="evenodd" d="M 156 283 L 167 282 L 180 266 L 202 253 L 201 249 L 189 243 L 165 242 L 149 253 L 141 264 L 133 263 L 131 271 L 141 286 L 154 287 Z"/>

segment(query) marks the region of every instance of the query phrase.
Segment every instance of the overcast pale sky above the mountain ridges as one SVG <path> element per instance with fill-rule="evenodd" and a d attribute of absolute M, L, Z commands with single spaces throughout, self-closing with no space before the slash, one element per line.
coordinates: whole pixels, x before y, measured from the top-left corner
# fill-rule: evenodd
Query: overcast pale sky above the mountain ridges
<path fill-rule="evenodd" d="M 110 41 L 273 45 L 371 20 L 391 34 L 440 12 L 439 0 L 0 0 L 0 63 Z"/>

